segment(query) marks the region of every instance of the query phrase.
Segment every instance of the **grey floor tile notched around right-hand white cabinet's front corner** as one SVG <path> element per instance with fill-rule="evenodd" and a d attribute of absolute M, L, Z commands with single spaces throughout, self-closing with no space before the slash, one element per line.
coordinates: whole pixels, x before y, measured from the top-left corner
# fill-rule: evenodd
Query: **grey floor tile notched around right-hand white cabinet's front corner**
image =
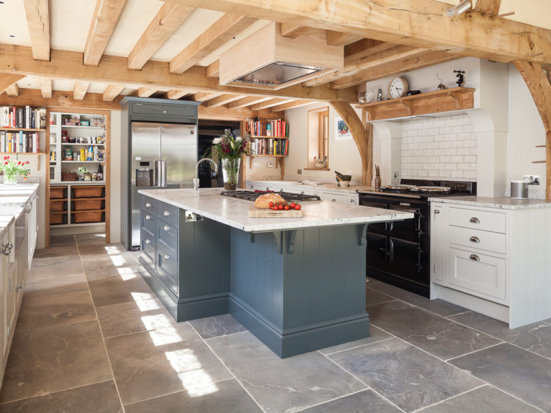
<path fill-rule="evenodd" d="M 502 321 L 472 311 L 450 319 L 551 359 L 551 325 L 546 322 L 509 328 Z"/>

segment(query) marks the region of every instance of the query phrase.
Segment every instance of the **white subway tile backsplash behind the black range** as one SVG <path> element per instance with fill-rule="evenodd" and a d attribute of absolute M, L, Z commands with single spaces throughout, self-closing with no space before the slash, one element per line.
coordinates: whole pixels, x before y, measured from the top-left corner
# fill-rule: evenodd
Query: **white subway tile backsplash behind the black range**
<path fill-rule="evenodd" d="M 470 116 L 402 122 L 402 178 L 477 180 L 477 134 Z"/>

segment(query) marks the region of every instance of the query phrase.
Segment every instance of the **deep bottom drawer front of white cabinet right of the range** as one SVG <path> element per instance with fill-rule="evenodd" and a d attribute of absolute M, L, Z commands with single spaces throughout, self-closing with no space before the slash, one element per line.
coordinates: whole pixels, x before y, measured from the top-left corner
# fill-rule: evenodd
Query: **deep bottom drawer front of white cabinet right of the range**
<path fill-rule="evenodd" d="M 448 248 L 451 288 L 492 301 L 506 301 L 505 260 Z"/>

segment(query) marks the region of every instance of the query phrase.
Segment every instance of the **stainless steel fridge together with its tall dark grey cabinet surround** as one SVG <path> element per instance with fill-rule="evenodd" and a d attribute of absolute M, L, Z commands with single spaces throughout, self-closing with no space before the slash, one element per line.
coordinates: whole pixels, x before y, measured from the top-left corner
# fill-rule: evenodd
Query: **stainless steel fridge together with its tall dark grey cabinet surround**
<path fill-rule="evenodd" d="M 192 188 L 199 102 L 126 97 L 121 100 L 121 241 L 140 245 L 138 189 Z"/>

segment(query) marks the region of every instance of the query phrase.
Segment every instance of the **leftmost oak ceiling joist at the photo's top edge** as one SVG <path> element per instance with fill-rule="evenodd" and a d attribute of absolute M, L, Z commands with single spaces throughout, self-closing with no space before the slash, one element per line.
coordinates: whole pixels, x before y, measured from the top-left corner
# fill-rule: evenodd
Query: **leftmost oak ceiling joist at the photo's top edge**
<path fill-rule="evenodd" d="M 50 7 L 48 0 L 23 0 L 29 27 L 32 56 L 50 60 Z"/>

